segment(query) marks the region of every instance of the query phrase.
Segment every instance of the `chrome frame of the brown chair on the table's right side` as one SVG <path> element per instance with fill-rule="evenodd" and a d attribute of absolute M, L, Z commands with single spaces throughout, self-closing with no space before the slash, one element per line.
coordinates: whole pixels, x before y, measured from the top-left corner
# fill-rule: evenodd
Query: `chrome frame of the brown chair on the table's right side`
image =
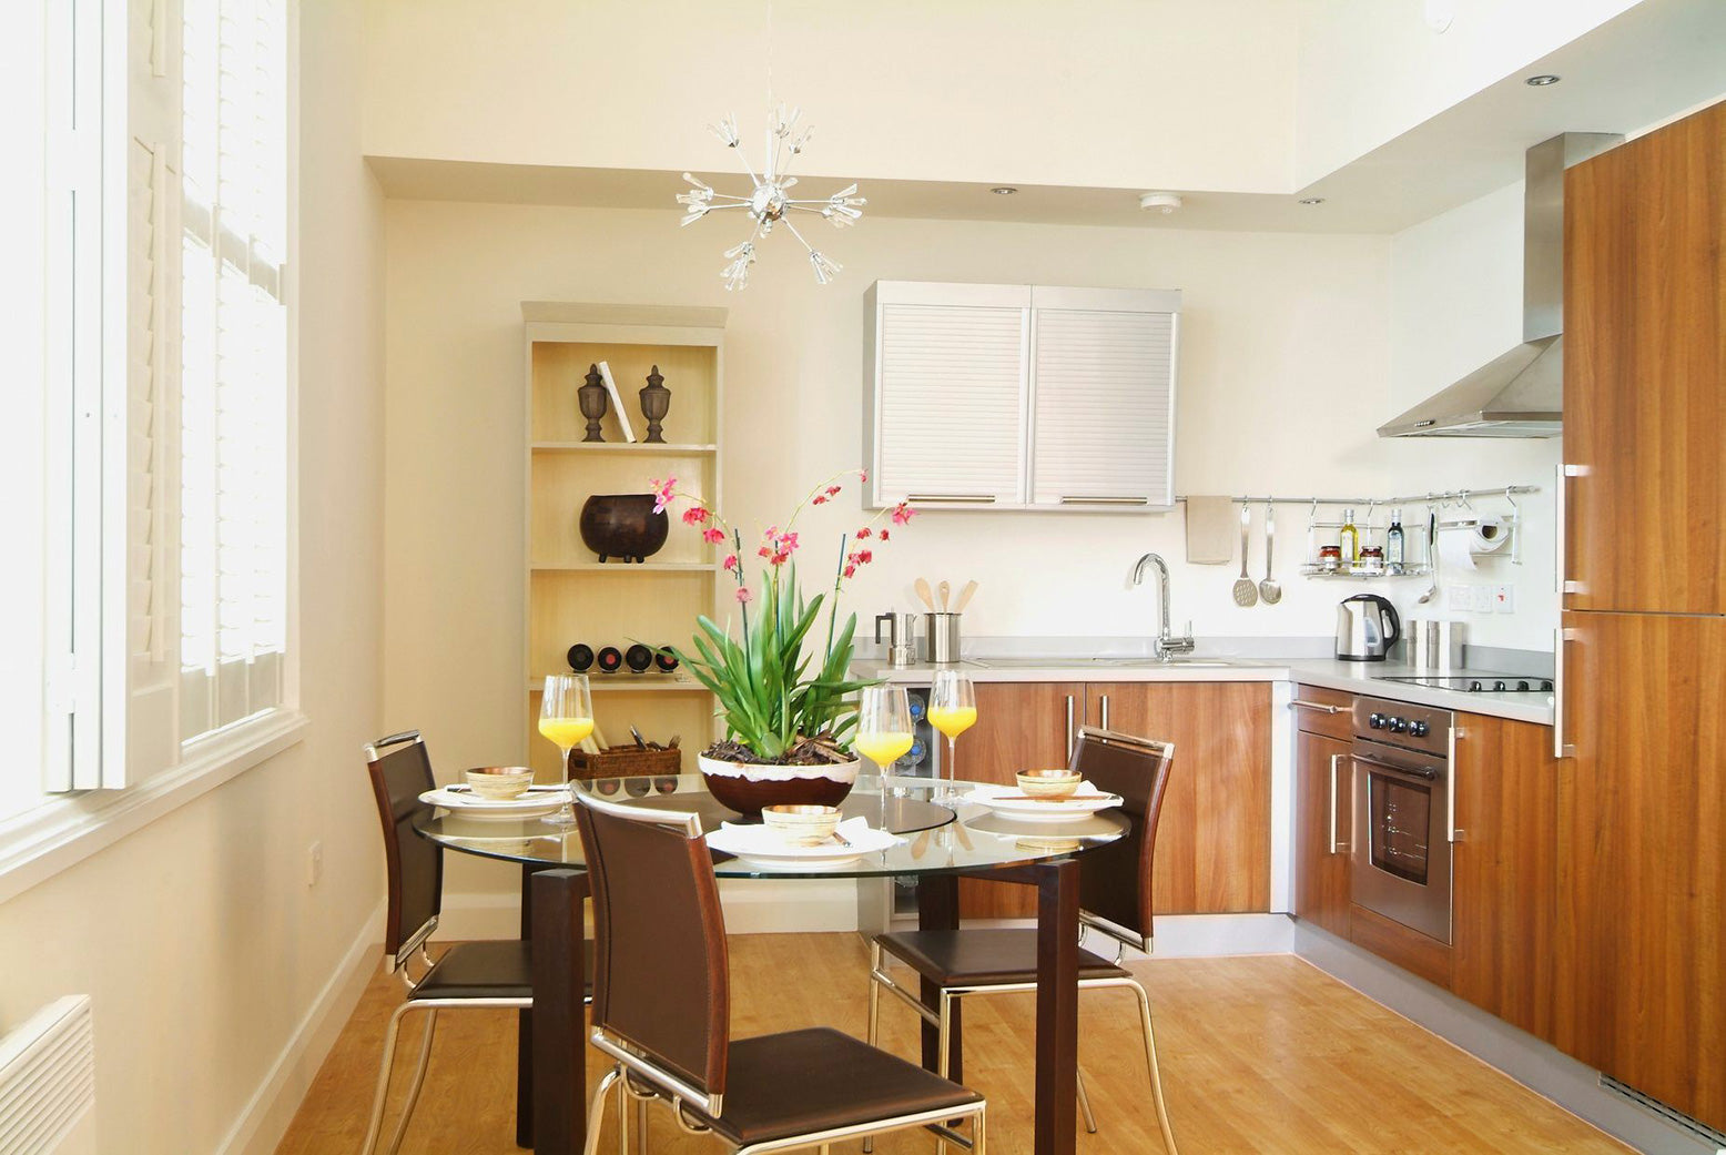
<path fill-rule="evenodd" d="M 1148 739 L 1136 737 L 1132 734 L 1120 734 L 1118 730 L 1103 730 L 1096 727 L 1084 727 L 1079 732 L 1080 739 L 1098 739 L 1112 742 L 1117 746 L 1134 746 L 1158 749 L 1165 758 L 1174 756 L 1174 746 L 1169 742 L 1153 742 Z M 1077 761 L 1077 746 L 1075 756 Z M 1108 937 L 1115 939 L 1115 963 L 1120 963 L 1125 948 L 1134 948 L 1151 953 L 1151 936 L 1139 936 L 1127 927 L 1117 925 L 1108 918 L 1094 915 L 1087 910 L 1079 912 L 1079 936 L 1084 937 L 1086 929 L 1094 929 Z M 1024 994 L 1036 991 L 1036 982 L 984 982 L 984 984 L 967 984 L 967 986 L 949 986 L 941 988 L 941 998 L 935 1008 L 923 1003 L 922 993 L 901 986 L 892 979 L 885 967 L 885 951 L 879 939 L 870 939 L 870 982 L 868 982 L 868 1045 L 875 1046 L 880 1027 L 880 989 L 885 988 L 896 994 L 906 1007 L 917 1012 L 917 1015 L 935 1027 L 937 1036 L 937 1053 L 939 1063 L 937 1070 L 942 1077 L 948 1076 L 948 1067 L 951 1065 L 951 1053 L 948 1046 L 948 1038 L 953 1027 L 953 1005 L 968 994 Z M 1169 1124 L 1169 1107 L 1163 1101 L 1163 1079 L 1156 1063 L 1156 1029 L 1151 1026 L 1151 996 L 1146 993 L 1144 986 L 1134 977 L 1106 977 L 1106 979 L 1079 979 L 1079 989 L 1103 989 L 1103 988 L 1127 988 L 1137 996 L 1139 1001 L 1139 1026 L 1144 1029 L 1144 1063 L 1151 1076 L 1151 1100 L 1156 1105 L 1156 1127 L 1163 1136 L 1163 1148 L 1169 1155 L 1179 1155 L 1175 1146 L 1175 1134 Z M 1079 1072 L 1079 1110 L 1084 1115 L 1084 1127 L 1087 1133 L 1096 1134 L 1096 1115 L 1091 1112 L 1091 1096 L 1086 1093 L 1084 1072 Z M 872 1152 L 873 1145 L 865 1143 L 865 1152 Z"/>

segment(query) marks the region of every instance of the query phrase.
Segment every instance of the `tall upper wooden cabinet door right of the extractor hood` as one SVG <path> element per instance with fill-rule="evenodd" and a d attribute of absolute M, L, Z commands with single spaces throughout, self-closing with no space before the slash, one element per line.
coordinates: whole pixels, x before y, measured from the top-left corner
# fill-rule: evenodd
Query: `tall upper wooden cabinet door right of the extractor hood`
<path fill-rule="evenodd" d="M 1567 609 L 1726 613 L 1726 102 L 1564 180 Z"/>

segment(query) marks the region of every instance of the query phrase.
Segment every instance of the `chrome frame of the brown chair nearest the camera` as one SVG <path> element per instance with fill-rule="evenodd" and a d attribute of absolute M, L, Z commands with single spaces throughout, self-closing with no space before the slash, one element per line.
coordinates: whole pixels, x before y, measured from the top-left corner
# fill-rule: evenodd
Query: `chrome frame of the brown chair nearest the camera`
<path fill-rule="evenodd" d="M 592 794 L 576 794 L 576 801 L 585 806 L 592 806 L 601 813 L 616 815 L 620 818 L 630 818 L 633 822 L 652 822 L 658 825 L 682 827 L 682 832 L 689 837 L 701 836 L 701 815 L 675 811 L 675 810 L 646 810 L 642 806 L 625 806 L 613 803 Z M 623 1039 L 616 1039 L 604 1029 L 595 1027 L 590 1039 L 595 1050 L 609 1055 L 614 1060 L 611 1070 L 601 1077 L 599 1086 L 594 1088 L 594 1101 L 589 1108 L 589 1126 L 587 1126 L 587 1146 L 585 1155 L 597 1155 L 599 1152 L 599 1124 L 604 1119 L 606 1096 L 611 1089 L 618 1088 L 618 1155 L 628 1155 L 628 1134 L 625 1133 L 627 1103 L 628 1100 L 637 1100 L 637 1127 L 640 1131 L 639 1150 L 647 1152 L 647 1103 L 652 1100 L 661 1100 L 670 1107 L 673 1120 L 677 1126 L 689 1134 L 711 1134 L 713 1127 L 708 1124 L 690 1120 L 685 1114 L 683 1105 L 694 1105 L 699 1112 L 709 1119 L 716 1119 L 725 1112 L 723 1095 L 706 1095 L 683 1079 L 678 1079 L 670 1070 L 661 1069 L 646 1055 L 640 1055 Z M 946 1076 L 946 1072 L 942 1072 Z M 640 1082 L 637 1082 L 640 1081 Z M 646 1084 L 646 1086 L 642 1086 Z M 844 1139 L 854 1139 L 863 1136 L 887 1134 L 889 1131 L 904 1131 L 910 1127 L 930 1127 L 941 1139 L 942 1148 L 948 1139 L 965 1146 L 975 1155 L 987 1155 L 987 1134 L 986 1134 L 986 1110 L 987 1100 L 977 1100 L 975 1103 L 960 1107 L 942 1107 L 935 1110 L 917 1112 L 911 1115 L 896 1115 L 889 1119 L 872 1120 L 866 1124 L 853 1124 L 847 1127 L 832 1127 L 827 1131 L 811 1131 L 808 1134 L 794 1134 L 778 1139 L 766 1139 L 761 1143 L 747 1143 L 744 1146 L 732 1148 L 732 1155 L 765 1155 L 766 1152 L 785 1152 L 799 1146 L 818 1146 L 822 1155 L 828 1155 L 832 1143 Z M 951 1122 L 960 1119 L 972 1120 L 972 1134 L 967 1139 L 949 1127 Z"/>

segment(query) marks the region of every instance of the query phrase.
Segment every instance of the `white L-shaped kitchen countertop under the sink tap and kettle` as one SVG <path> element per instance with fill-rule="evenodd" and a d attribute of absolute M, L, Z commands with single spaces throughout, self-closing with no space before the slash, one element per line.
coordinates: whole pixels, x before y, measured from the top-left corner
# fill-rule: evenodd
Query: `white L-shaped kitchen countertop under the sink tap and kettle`
<path fill-rule="evenodd" d="M 991 665 L 998 661 L 999 665 Z M 1212 663 L 1212 665 L 1206 665 Z M 854 661 L 858 677 L 927 685 L 939 666 L 889 666 L 882 661 Z M 1415 675 L 1403 665 L 1386 661 L 1336 661 L 1334 658 L 1198 658 L 1167 665 L 1136 660 L 1089 658 L 998 658 L 980 656 L 960 663 L 972 682 L 1300 682 L 1350 694 L 1372 694 L 1391 701 L 1417 703 L 1439 710 L 1510 718 L 1552 725 L 1552 694 L 1464 692 L 1388 682 L 1396 675 Z"/>

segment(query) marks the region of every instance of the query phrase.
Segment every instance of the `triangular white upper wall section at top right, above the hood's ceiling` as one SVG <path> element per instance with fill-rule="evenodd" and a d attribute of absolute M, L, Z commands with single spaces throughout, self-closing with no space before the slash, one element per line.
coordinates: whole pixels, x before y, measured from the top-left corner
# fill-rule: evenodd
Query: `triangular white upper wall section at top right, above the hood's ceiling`
<path fill-rule="evenodd" d="M 1307 186 L 1641 0 L 1313 0 L 1300 29 L 1296 186 Z"/>

